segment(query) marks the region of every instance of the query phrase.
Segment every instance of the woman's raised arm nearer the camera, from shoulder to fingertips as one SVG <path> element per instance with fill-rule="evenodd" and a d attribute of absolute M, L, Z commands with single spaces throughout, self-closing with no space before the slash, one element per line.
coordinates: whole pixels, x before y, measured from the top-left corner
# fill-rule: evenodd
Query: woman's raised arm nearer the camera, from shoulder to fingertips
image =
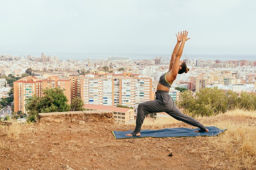
<path fill-rule="evenodd" d="M 182 42 L 181 42 L 180 47 L 179 47 L 179 49 L 178 49 L 178 51 L 175 55 L 172 71 L 167 73 L 168 75 L 166 76 L 166 77 L 168 77 L 167 78 L 168 82 L 172 83 L 177 77 L 177 74 L 179 72 L 180 57 L 182 56 L 182 52 L 183 52 L 183 49 L 184 49 L 185 42 L 190 39 L 190 38 L 187 38 L 187 35 L 188 35 L 188 32 L 183 31 L 183 33 L 182 33 Z"/>

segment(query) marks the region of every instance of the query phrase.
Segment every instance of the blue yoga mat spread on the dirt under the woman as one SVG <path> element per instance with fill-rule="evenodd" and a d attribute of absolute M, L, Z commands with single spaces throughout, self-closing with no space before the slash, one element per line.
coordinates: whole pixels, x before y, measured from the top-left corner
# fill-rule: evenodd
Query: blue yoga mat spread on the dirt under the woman
<path fill-rule="evenodd" d="M 165 128 L 161 130 L 141 130 L 140 136 L 126 136 L 126 134 L 132 132 L 129 131 L 112 131 L 115 139 L 125 139 L 125 138 L 138 138 L 138 137 L 198 137 L 198 136 L 217 136 L 227 129 L 219 129 L 215 126 L 207 126 L 209 132 L 195 132 L 197 129 L 190 128 Z"/>

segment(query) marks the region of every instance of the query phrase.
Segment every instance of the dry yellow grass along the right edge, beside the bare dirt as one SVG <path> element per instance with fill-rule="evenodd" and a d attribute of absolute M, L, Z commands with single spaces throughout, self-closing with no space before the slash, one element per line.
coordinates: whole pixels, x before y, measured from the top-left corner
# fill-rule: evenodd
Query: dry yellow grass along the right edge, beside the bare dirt
<path fill-rule="evenodd" d="M 254 111 L 234 110 L 225 113 L 231 116 L 256 117 Z M 247 122 L 221 121 L 210 126 L 228 130 L 210 140 L 211 145 L 220 151 L 214 155 L 215 163 L 209 161 L 213 169 L 255 170 L 256 169 L 256 121 Z"/>

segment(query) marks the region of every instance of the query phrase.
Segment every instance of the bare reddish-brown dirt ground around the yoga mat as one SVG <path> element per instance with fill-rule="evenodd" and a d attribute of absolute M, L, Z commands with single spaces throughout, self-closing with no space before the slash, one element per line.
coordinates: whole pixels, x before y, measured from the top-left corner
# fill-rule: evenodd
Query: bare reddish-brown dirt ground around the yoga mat
<path fill-rule="evenodd" d="M 200 121 L 214 124 L 219 119 L 243 121 L 229 116 Z M 194 128 L 181 122 L 142 129 L 172 127 Z M 0 150 L 0 170 L 209 170 L 209 163 L 216 161 L 209 156 L 221 152 L 208 144 L 215 137 L 115 139 L 112 134 L 133 129 L 134 125 L 64 121 L 27 126 L 19 139 L 0 132 L 9 146 Z"/>

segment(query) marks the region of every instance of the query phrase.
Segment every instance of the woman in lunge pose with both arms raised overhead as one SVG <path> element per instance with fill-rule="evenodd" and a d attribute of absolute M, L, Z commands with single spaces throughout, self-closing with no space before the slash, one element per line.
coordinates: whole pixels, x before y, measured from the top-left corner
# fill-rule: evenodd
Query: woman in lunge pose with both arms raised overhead
<path fill-rule="evenodd" d="M 178 35 L 176 34 L 177 44 L 175 45 L 171 56 L 169 71 L 164 73 L 159 79 L 155 100 L 142 102 L 138 105 L 135 130 L 126 134 L 126 136 L 140 136 L 140 129 L 144 118 L 149 113 L 154 112 L 166 112 L 177 120 L 184 121 L 187 124 L 200 128 L 200 130 L 195 130 L 195 132 L 209 132 L 209 130 L 199 121 L 195 120 L 193 117 L 184 115 L 175 106 L 173 98 L 169 95 L 171 84 L 173 84 L 177 74 L 187 73 L 189 71 L 189 68 L 186 67 L 186 63 L 180 61 L 185 42 L 190 39 L 187 38 L 187 35 L 188 32 L 186 31 L 183 31 L 183 33 L 178 32 Z"/>

